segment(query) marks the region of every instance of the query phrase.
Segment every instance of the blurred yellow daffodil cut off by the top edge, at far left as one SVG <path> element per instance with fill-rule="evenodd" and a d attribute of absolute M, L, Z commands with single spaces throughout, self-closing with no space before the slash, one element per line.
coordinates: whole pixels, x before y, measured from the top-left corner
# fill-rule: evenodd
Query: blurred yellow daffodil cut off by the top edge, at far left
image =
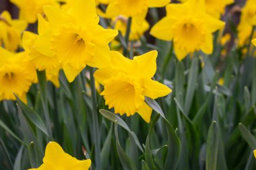
<path fill-rule="evenodd" d="M 44 5 L 59 5 L 57 0 L 11 0 L 20 9 L 19 18 L 28 23 L 35 23 L 37 15 L 43 14 Z"/>

